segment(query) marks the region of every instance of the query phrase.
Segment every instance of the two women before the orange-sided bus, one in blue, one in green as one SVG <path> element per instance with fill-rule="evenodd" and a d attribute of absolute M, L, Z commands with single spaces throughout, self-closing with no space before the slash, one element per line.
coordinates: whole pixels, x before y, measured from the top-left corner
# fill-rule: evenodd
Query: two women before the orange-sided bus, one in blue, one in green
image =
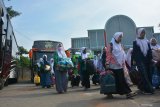
<path fill-rule="evenodd" d="M 40 85 L 42 88 L 50 88 L 54 77 L 57 92 L 67 92 L 68 69 L 60 69 L 59 65 L 59 62 L 64 58 L 67 58 L 67 55 L 62 43 L 57 45 L 54 57 L 50 59 L 50 62 L 47 60 L 47 55 L 43 55 L 43 58 L 40 58 L 38 67 L 40 71 Z"/>

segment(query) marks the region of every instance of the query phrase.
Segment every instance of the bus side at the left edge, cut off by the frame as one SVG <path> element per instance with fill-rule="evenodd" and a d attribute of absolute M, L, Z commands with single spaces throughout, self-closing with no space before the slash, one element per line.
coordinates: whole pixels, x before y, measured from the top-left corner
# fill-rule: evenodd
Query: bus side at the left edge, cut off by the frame
<path fill-rule="evenodd" d="M 10 74 L 18 74 L 16 59 L 19 58 L 18 44 L 3 0 L 0 0 L 0 42 L 0 89 L 2 89 L 4 84 L 8 85 Z M 17 76 L 12 78 L 17 80 Z"/>

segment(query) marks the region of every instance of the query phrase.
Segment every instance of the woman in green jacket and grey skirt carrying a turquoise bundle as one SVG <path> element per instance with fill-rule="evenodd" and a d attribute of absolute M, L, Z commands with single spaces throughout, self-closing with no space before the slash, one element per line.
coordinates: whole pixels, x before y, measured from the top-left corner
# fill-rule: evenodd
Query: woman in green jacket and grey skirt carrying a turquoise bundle
<path fill-rule="evenodd" d="M 56 79 L 56 90 L 58 93 L 67 92 L 68 78 L 67 70 L 60 70 L 59 61 L 67 58 L 63 44 L 59 43 L 57 45 L 57 50 L 54 54 L 54 70 Z"/>

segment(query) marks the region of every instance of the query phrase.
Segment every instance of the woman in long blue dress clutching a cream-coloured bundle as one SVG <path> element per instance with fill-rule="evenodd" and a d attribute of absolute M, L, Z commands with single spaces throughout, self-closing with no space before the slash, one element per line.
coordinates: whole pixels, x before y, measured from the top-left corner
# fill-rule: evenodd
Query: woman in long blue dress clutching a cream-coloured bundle
<path fill-rule="evenodd" d="M 51 87 L 51 72 L 50 64 L 47 61 L 47 55 L 43 55 L 43 60 L 40 61 L 40 72 L 41 72 L 41 86 L 42 88 Z"/>

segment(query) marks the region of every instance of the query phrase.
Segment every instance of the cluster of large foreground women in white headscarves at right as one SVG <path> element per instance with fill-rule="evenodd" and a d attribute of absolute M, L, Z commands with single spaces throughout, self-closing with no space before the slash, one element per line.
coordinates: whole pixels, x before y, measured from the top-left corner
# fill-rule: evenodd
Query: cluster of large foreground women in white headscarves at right
<path fill-rule="evenodd" d="M 154 93 L 152 75 L 155 70 L 157 76 L 160 74 L 160 46 L 157 44 L 155 38 L 149 41 L 145 35 L 145 29 L 139 28 L 136 40 L 133 41 L 133 48 L 128 50 L 127 55 L 121 44 L 123 32 L 116 32 L 110 44 L 103 49 L 102 64 L 105 70 L 111 70 L 113 72 L 117 94 L 126 94 L 127 98 L 135 96 L 136 93 L 131 92 L 129 84 L 127 83 L 125 68 L 130 71 L 132 67 L 137 67 L 139 72 L 137 75 L 139 76 L 137 86 L 143 94 Z M 113 97 L 112 93 L 108 93 L 107 95 Z"/>

